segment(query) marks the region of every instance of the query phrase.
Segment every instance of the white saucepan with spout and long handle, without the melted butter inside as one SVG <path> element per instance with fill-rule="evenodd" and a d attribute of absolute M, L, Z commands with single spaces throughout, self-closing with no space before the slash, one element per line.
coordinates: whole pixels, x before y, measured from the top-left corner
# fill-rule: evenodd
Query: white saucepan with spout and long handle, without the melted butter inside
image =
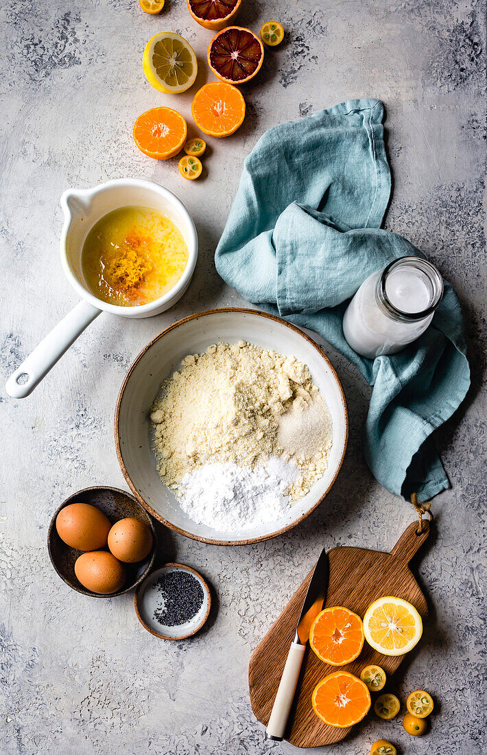
<path fill-rule="evenodd" d="M 60 199 L 64 225 L 60 238 L 61 263 L 64 273 L 82 301 L 8 378 L 5 388 L 10 396 L 23 399 L 69 349 L 76 338 L 102 312 L 122 317 L 151 317 L 168 310 L 190 285 L 198 256 L 198 236 L 190 214 L 183 203 L 167 189 L 150 181 L 121 178 L 107 181 L 94 189 L 71 189 Z M 164 296 L 140 307 L 117 307 L 97 299 L 88 291 L 82 273 L 82 249 L 91 228 L 101 217 L 121 207 L 137 206 L 159 210 L 176 223 L 188 247 L 188 261 L 183 275 Z"/>

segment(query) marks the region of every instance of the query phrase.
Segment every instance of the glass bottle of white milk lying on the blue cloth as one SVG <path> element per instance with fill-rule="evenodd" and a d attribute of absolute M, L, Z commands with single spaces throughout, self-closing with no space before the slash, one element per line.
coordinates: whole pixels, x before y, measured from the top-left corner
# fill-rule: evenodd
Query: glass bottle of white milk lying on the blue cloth
<path fill-rule="evenodd" d="M 424 333 L 442 295 L 434 265 L 399 257 L 362 283 L 344 314 L 344 336 L 369 359 L 394 354 Z"/>

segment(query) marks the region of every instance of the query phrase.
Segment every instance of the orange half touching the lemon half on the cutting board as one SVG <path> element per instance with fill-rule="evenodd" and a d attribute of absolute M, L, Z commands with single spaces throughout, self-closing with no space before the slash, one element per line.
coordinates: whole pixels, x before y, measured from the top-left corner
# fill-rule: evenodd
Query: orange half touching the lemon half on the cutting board
<path fill-rule="evenodd" d="M 344 666 L 360 655 L 364 643 L 362 619 L 344 608 L 333 606 L 316 616 L 310 629 L 310 646 L 330 666 Z"/>

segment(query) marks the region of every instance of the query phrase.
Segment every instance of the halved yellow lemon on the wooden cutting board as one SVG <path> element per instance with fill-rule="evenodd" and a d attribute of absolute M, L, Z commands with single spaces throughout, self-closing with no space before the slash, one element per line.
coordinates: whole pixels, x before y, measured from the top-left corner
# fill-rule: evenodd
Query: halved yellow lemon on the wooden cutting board
<path fill-rule="evenodd" d="M 368 644 L 384 655 L 404 655 L 423 633 L 421 616 L 407 600 L 387 596 L 368 606 L 364 616 Z"/>

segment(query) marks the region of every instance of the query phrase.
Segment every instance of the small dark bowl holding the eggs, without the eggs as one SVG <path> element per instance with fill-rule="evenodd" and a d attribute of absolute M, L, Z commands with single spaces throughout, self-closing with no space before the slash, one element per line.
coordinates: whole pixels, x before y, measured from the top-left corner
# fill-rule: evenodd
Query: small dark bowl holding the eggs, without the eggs
<path fill-rule="evenodd" d="M 127 580 L 122 590 L 118 590 L 116 593 L 109 593 L 108 595 L 92 593 L 91 590 L 86 590 L 76 577 L 75 562 L 78 556 L 81 556 L 82 551 L 66 545 L 57 534 L 56 529 L 57 514 L 65 506 L 75 503 L 96 506 L 97 509 L 100 509 L 100 511 L 103 511 L 108 516 L 112 524 L 128 516 L 134 517 L 134 519 L 139 519 L 140 522 L 150 527 L 153 533 L 153 550 L 151 550 L 149 556 L 143 561 L 134 564 L 125 564 Z M 156 558 L 156 530 L 150 516 L 148 516 L 133 495 L 126 493 L 124 490 L 119 490 L 119 488 L 106 488 L 97 485 L 93 488 L 83 488 L 77 493 L 73 493 L 69 498 L 66 498 L 66 501 L 63 501 L 56 513 L 54 513 L 48 529 L 48 551 L 51 563 L 54 569 L 56 569 L 57 574 L 73 590 L 77 590 L 77 592 L 93 598 L 113 598 L 116 595 L 123 595 L 124 593 L 128 593 L 129 590 L 133 590 L 153 568 L 154 559 Z"/>

